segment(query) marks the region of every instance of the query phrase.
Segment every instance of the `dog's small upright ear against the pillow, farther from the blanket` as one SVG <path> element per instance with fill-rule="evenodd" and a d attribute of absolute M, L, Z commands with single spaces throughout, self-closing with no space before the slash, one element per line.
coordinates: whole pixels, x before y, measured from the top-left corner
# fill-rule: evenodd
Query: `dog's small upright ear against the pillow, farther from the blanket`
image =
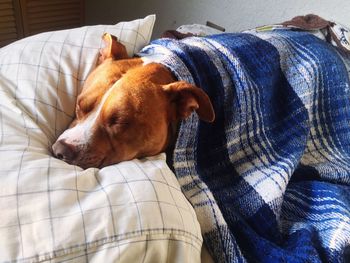
<path fill-rule="evenodd" d="M 117 37 L 108 33 L 104 33 L 102 39 L 104 41 L 105 46 L 100 50 L 100 56 L 97 62 L 98 65 L 101 64 L 107 58 L 128 58 L 128 53 L 126 52 L 125 46 L 118 41 Z"/>

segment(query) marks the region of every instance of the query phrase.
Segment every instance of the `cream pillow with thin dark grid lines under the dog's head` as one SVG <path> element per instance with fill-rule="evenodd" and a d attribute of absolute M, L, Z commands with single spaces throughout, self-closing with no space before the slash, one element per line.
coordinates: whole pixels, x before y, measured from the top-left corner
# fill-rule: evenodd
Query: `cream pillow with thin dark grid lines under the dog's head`
<path fill-rule="evenodd" d="M 155 16 L 0 49 L 0 262 L 199 262 L 195 212 L 165 155 L 82 170 L 52 157 L 104 32 L 129 55 Z"/>

